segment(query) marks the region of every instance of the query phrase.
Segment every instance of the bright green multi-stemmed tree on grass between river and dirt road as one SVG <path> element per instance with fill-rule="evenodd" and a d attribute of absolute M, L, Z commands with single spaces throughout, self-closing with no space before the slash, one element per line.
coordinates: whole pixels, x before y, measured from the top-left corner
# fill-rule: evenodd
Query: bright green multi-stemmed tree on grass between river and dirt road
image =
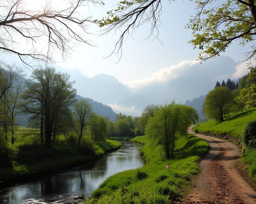
<path fill-rule="evenodd" d="M 159 107 L 154 116 L 149 118 L 146 137 L 155 145 L 160 144 L 167 159 L 174 157 L 175 138 L 187 135 L 190 124 L 198 120 L 193 107 L 182 104 L 165 104 Z"/>

